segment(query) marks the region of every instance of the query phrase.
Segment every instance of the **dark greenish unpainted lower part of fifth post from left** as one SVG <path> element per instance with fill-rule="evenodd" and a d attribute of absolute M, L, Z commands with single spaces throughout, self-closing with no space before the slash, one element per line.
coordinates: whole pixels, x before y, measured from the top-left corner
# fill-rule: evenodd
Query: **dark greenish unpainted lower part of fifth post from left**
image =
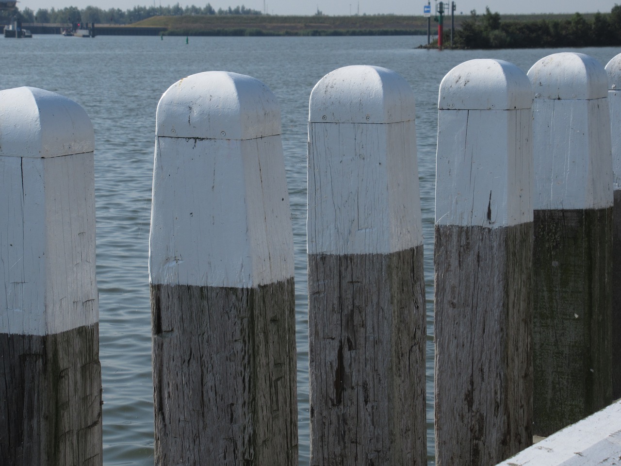
<path fill-rule="evenodd" d="M 612 401 L 612 208 L 535 210 L 535 434 Z"/>

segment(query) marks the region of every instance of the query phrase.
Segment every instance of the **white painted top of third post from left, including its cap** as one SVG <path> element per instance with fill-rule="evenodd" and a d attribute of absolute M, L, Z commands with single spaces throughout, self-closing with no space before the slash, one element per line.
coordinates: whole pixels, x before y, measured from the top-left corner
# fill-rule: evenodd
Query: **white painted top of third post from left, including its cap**
<path fill-rule="evenodd" d="M 309 254 L 391 254 L 422 244 L 414 91 L 346 66 L 309 102 Z"/>

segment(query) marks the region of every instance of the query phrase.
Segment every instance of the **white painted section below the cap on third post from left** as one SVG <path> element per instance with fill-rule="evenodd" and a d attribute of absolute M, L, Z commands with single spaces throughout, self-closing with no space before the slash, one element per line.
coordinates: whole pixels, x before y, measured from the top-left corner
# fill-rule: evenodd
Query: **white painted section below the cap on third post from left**
<path fill-rule="evenodd" d="M 390 254 L 423 242 L 414 120 L 309 124 L 309 254 Z"/>

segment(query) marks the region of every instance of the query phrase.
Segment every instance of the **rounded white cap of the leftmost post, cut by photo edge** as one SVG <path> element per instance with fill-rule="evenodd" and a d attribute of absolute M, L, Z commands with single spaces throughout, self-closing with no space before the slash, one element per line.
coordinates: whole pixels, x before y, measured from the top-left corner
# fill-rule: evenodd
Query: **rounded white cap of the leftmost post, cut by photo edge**
<path fill-rule="evenodd" d="M 60 157 L 94 147 L 93 124 L 71 99 L 30 87 L 0 91 L 0 156 Z"/>

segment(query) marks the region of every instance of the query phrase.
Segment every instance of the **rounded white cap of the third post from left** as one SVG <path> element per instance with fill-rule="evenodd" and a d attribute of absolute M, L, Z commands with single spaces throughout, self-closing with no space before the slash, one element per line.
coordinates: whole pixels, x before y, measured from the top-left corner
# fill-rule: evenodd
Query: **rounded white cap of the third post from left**
<path fill-rule="evenodd" d="M 404 78 L 379 66 L 338 68 L 315 85 L 310 123 L 394 123 L 415 119 L 414 92 Z"/>

